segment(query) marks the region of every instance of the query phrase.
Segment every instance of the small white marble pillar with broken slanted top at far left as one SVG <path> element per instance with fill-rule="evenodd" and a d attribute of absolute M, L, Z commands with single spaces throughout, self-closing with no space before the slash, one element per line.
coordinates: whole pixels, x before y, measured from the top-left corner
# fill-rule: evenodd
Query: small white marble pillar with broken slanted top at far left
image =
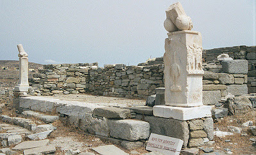
<path fill-rule="evenodd" d="M 17 45 L 19 50 L 19 81 L 18 85 L 14 87 L 14 91 L 27 92 L 29 88 L 28 83 L 28 54 L 24 51 L 21 44 Z"/>

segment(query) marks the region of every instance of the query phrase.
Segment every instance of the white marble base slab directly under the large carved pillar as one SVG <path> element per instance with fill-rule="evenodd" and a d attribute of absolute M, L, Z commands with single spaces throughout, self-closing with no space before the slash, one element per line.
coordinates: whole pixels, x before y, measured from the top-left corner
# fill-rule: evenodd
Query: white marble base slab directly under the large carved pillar
<path fill-rule="evenodd" d="M 172 107 L 166 105 L 156 105 L 153 107 L 153 114 L 156 117 L 178 119 L 187 121 L 203 117 L 211 117 L 211 106 L 198 107 Z"/>

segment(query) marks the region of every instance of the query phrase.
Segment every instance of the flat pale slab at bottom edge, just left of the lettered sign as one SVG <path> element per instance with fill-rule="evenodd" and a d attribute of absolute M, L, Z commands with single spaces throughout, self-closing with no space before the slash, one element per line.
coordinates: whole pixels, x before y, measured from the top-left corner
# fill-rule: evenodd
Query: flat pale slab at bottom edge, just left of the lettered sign
<path fill-rule="evenodd" d="M 115 152 L 115 154 L 118 154 L 118 155 L 123 155 L 123 154 L 128 155 L 127 153 L 125 153 L 124 151 L 122 151 L 121 149 L 116 147 L 115 145 L 102 145 L 102 146 L 95 147 L 92 149 L 102 155 L 112 155 L 113 152 Z M 26 154 L 24 154 L 24 155 L 26 155 Z"/>

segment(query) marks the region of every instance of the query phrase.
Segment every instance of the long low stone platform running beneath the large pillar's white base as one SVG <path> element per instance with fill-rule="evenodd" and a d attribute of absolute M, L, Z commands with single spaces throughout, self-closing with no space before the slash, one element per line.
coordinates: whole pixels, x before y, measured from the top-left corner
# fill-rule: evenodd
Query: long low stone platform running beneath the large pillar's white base
<path fill-rule="evenodd" d="M 150 133 L 184 140 L 184 147 L 203 145 L 203 138 L 212 139 L 212 119 L 205 115 L 196 123 L 172 118 L 156 117 L 145 100 L 129 100 L 90 95 L 28 96 L 20 97 L 19 110 L 54 113 L 60 119 L 93 135 L 111 138 L 125 148 L 143 146 Z M 191 128 L 191 123 L 196 124 Z M 141 125 L 142 124 L 142 125 Z M 113 126 L 115 128 L 113 128 Z M 124 131 L 125 132 L 120 132 Z M 191 138 L 190 132 L 205 133 Z M 118 138 L 118 139 L 116 139 Z M 121 141 L 120 141 L 121 140 Z M 191 140 L 196 140 L 189 144 Z M 192 141 L 191 141 L 192 142 Z"/>

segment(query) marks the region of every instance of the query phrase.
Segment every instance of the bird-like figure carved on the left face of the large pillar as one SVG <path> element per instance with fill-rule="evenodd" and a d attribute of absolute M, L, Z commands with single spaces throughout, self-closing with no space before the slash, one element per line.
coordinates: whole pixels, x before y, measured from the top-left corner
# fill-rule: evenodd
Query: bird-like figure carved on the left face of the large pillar
<path fill-rule="evenodd" d="M 176 57 L 176 52 L 173 53 L 173 61 L 172 65 L 170 68 L 172 80 L 173 80 L 173 85 L 171 87 L 171 91 L 181 91 L 180 85 L 178 85 L 178 79 L 180 77 L 180 66 L 177 64 L 177 57 Z"/>

